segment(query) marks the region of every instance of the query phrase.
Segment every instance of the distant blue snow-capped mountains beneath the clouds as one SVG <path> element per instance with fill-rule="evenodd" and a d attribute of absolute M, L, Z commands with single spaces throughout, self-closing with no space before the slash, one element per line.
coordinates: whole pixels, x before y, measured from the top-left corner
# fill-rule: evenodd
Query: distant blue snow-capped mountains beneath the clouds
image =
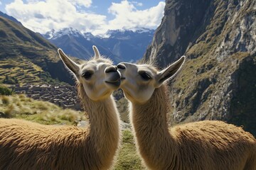
<path fill-rule="evenodd" d="M 91 57 L 93 53 L 90 48 L 96 45 L 102 55 L 118 63 L 141 59 L 153 38 L 154 30 L 109 30 L 107 35 L 108 38 L 101 38 L 91 33 L 82 34 L 74 28 L 63 28 L 58 31 L 51 30 L 43 37 L 65 50 L 68 55 L 80 59 Z"/>

